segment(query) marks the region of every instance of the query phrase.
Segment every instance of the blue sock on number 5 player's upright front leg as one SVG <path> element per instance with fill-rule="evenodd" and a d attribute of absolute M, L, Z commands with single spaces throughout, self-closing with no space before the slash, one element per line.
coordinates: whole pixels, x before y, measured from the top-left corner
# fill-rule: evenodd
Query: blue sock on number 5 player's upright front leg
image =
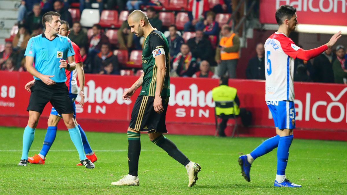
<path fill-rule="evenodd" d="M 277 149 L 277 175 L 284 176 L 289 156 L 289 147 L 293 141 L 293 135 L 280 137 Z M 279 181 L 281 183 L 281 181 Z"/>

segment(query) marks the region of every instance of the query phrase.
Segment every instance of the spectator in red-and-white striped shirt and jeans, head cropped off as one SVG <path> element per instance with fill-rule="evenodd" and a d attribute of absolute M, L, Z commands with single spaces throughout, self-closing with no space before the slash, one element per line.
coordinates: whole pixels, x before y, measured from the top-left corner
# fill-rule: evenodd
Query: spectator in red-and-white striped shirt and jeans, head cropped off
<path fill-rule="evenodd" d="M 184 25 L 184 32 L 202 30 L 205 26 L 203 23 L 206 11 L 210 10 L 208 0 L 192 0 L 188 5 L 189 22 Z"/>

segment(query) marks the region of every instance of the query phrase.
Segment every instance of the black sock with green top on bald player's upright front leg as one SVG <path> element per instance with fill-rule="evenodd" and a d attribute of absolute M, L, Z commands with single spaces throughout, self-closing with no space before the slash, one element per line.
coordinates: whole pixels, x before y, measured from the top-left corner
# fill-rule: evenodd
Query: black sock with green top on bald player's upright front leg
<path fill-rule="evenodd" d="M 138 158 L 141 151 L 140 133 L 128 131 L 128 143 L 128 174 L 137 177 Z"/>

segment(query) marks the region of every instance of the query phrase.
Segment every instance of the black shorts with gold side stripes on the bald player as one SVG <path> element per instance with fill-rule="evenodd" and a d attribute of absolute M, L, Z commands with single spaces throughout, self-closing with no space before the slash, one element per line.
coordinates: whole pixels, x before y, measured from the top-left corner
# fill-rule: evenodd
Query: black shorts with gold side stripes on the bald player
<path fill-rule="evenodd" d="M 139 132 L 168 133 L 165 120 L 169 97 L 161 96 L 161 100 L 164 111 L 159 114 L 154 111 L 153 96 L 139 95 L 131 113 L 129 128 Z"/>

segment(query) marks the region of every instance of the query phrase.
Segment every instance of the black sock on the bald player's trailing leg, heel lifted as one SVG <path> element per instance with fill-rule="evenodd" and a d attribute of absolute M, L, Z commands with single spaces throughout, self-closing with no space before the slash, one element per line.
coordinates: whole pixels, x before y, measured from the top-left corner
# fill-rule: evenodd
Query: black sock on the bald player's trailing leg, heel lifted
<path fill-rule="evenodd" d="M 178 150 L 177 146 L 171 142 L 170 139 L 160 135 L 152 141 L 157 146 L 161 147 L 165 152 L 169 154 L 172 158 L 177 160 L 179 163 L 187 166 L 190 162 L 186 155 L 184 155 L 180 150 Z"/>

